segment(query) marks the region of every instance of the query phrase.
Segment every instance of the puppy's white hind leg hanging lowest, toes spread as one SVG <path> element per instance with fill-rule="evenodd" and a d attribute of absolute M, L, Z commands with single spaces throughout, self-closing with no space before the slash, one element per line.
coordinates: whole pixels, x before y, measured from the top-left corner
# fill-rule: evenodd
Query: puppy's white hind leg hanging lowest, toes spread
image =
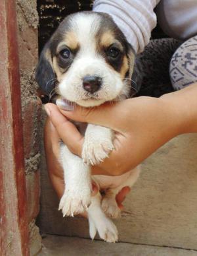
<path fill-rule="evenodd" d="M 118 240 L 118 230 L 112 220 L 110 220 L 100 207 L 101 195 L 97 193 L 91 197 L 91 205 L 87 209 L 89 218 L 89 234 L 92 239 L 95 238 L 97 231 L 100 238 L 104 241 L 115 243 Z"/>

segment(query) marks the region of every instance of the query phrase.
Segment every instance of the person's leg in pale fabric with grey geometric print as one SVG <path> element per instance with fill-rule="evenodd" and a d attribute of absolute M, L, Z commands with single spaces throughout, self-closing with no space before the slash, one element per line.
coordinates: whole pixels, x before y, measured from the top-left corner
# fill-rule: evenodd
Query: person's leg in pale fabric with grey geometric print
<path fill-rule="evenodd" d="M 184 42 L 173 54 L 169 67 L 175 90 L 197 81 L 197 36 Z"/>

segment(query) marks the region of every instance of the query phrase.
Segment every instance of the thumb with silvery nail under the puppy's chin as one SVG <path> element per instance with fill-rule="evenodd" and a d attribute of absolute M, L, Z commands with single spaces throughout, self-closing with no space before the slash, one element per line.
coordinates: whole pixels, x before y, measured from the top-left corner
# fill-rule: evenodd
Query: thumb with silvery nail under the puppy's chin
<path fill-rule="evenodd" d="M 66 100 L 60 99 L 56 101 L 56 104 L 60 112 L 69 119 L 102 125 L 115 131 L 121 130 L 120 128 L 123 121 L 121 119 L 125 119 L 121 111 L 124 105 L 123 102 L 106 102 L 93 108 L 83 108 L 78 105 L 72 106 L 71 108 Z"/>

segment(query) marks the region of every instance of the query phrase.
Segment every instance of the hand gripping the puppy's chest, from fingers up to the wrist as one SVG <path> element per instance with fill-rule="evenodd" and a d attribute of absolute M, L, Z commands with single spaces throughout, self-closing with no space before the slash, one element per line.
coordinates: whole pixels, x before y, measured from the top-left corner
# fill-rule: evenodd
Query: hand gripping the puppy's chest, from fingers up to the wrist
<path fill-rule="evenodd" d="M 76 106 L 72 112 L 60 110 L 54 104 L 47 104 L 46 108 L 58 137 L 78 156 L 81 156 L 83 136 L 66 117 L 115 131 L 115 150 L 104 162 L 93 166 L 93 174 L 121 175 L 179 134 L 180 114 L 162 98 L 139 97 L 97 108 Z M 55 141 L 52 144 L 58 145 Z"/>

